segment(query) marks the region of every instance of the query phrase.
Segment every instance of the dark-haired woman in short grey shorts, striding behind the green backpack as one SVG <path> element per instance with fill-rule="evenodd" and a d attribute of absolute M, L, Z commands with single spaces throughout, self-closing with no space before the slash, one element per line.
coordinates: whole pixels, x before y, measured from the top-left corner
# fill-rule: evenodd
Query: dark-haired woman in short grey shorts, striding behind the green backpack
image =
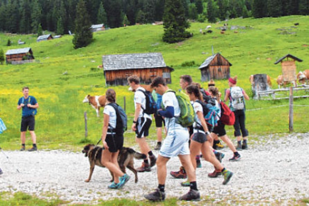
<path fill-rule="evenodd" d="M 191 135 L 191 143 L 190 143 L 190 153 L 191 153 L 191 161 L 193 163 L 194 169 L 196 169 L 196 163 L 194 161 L 196 155 L 199 155 L 201 152 L 206 161 L 212 163 L 217 171 L 223 174 L 224 181 L 222 184 L 227 184 L 233 173 L 231 171 L 226 170 L 222 167 L 219 160 L 215 157 L 213 149 L 210 145 L 212 142 L 211 131 L 213 130 L 213 126 L 210 124 L 206 124 L 204 109 L 207 109 L 206 104 L 202 100 L 202 95 L 200 90 L 195 85 L 189 85 L 186 88 L 188 96 L 191 101 L 193 101 L 193 108 L 195 112 L 194 123 L 193 123 L 193 134 Z M 218 103 L 218 102 L 217 102 Z M 203 104 L 205 107 L 203 107 Z M 216 118 L 216 117 L 215 117 Z M 189 186 L 188 180 L 181 183 L 182 186 Z"/>

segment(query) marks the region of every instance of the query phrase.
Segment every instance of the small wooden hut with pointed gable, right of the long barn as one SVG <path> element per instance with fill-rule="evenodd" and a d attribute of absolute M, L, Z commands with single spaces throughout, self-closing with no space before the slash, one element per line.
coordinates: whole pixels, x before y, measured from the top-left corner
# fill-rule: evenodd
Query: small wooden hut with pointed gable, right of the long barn
<path fill-rule="evenodd" d="M 208 57 L 199 67 L 201 81 L 230 78 L 230 66 L 232 64 L 219 53 Z"/>

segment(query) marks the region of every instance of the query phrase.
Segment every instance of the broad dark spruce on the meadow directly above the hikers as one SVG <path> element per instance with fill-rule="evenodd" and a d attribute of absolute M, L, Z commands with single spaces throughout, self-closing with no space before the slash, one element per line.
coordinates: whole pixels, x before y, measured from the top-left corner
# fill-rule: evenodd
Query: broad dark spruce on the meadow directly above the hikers
<path fill-rule="evenodd" d="M 166 0 L 163 15 L 163 41 L 175 43 L 190 37 L 190 25 L 184 15 L 182 0 Z"/>

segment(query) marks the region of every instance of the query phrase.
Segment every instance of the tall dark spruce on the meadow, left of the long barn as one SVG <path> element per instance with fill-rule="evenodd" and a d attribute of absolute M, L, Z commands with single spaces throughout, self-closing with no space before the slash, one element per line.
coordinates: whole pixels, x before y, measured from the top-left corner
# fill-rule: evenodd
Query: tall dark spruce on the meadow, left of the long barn
<path fill-rule="evenodd" d="M 75 32 L 72 40 L 74 48 L 86 47 L 92 42 L 91 23 L 84 0 L 79 0 L 75 20 Z"/>

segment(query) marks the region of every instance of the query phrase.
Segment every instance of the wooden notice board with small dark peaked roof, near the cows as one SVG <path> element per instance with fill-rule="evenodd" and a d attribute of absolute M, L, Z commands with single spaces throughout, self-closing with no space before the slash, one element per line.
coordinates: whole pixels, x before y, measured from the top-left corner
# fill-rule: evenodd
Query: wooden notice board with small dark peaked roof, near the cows
<path fill-rule="evenodd" d="M 286 59 L 286 60 L 285 60 Z M 286 56 L 283 56 L 278 61 L 276 61 L 274 64 L 281 63 L 282 68 L 282 77 L 283 81 L 285 82 L 294 82 L 294 85 L 296 86 L 296 64 L 295 61 L 302 62 L 303 60 L 298 59 L 296 56 L 293 56 L 291 54 L 287 54 Z"/>

